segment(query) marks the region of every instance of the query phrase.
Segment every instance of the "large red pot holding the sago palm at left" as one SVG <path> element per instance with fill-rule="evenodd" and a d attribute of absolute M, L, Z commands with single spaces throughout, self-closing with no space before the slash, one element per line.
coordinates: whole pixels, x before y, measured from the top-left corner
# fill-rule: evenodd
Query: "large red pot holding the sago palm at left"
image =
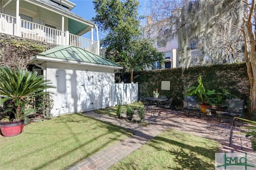
<path fill-rule="evenodd" d="M 24 121 L 25 119 L 17 120 L 14 122 L 0 121 L 1 134 L 6 137 L 20 134 L 24 128 Z"/>

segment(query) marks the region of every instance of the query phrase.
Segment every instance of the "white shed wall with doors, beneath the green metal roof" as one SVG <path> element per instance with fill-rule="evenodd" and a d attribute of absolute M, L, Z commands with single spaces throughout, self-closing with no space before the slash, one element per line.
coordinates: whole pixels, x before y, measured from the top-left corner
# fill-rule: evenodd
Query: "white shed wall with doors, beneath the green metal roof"
<path fill-rule="evenodd" d="M 114 69 L 55 62 L 42 65 L 46 79 L 56 86 L 49 89 L 54 93 L 54 116 L 113 106 Z"/>

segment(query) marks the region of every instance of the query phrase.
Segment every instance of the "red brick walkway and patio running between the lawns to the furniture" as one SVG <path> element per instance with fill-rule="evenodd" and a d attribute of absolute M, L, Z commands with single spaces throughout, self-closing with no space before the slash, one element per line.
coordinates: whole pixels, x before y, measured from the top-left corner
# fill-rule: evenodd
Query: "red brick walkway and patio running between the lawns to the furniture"
<path fill-rule="evenodd" d="M 241 131 L 239 127 L 233 127 L 228 123 L 219 123 L 215 119 L 208 120 L 204 117 L 200 119 L 187 118 L 184 112 L 173 111 L 173 114 L 168 114 L 168 116 L 162 112 L 159 116 L 152 117 L 150 114 L 146 114 L 145 120 L 150 122 L 148 127 L 94 112 L 86 112 L 85 115 L 132 130 L 134 135 L 78 162 L 67 170 L 107 170 L 168 128 L 216 140 L 221 144 L 219 152 L 253 152 L 249 138 L 239 134 Z"/>

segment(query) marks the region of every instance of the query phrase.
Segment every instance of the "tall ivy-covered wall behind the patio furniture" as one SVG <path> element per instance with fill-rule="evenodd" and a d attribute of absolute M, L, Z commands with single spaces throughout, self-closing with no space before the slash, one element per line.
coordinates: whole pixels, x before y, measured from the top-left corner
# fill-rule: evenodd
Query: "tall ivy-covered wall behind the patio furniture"
<path fill-rule="evenodd" d="M 153 97 L 152 92 L 158 88 L 160 95 L 173 98 L 172 105 L 179 108 L 184 100 L 184 90 L 197 86 L 197 78 L 200 75 L 206 89 L 226 88 L 245 101 L 250 96 L 250 84 L 244 62 L 134 72 L 134 82 L 139 83 L 139 96 Z M 130 82 L 130 74 L 116 73 L 116 82 L 120 81 Z M 170 81 L 170 90 L 161 90 L 161 81 Z"/>

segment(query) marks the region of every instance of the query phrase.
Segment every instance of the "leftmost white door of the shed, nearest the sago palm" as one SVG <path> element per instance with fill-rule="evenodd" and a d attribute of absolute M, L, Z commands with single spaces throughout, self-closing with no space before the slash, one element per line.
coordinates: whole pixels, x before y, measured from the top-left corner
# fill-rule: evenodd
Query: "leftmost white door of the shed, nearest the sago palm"
<path fill-rule="evenodd" d="M 70 85 L 68 81 L 68 72 L 56 71 L 56 114 L 69 113 Z"/>

